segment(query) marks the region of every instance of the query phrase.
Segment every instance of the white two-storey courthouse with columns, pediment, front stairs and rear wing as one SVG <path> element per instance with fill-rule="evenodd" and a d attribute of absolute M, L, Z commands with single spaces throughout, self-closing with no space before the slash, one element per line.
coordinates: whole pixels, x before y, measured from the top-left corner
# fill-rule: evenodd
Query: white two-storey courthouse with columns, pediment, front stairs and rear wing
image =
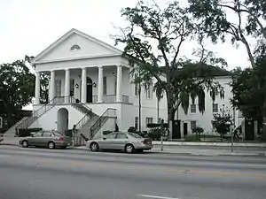
<path fill-rule="evenodd" d="M 37 55 L 32 65 L 35 65 L 36 75 L 33 115 L 21 119 L 8 133 L 16 128 L 32 127 L 64 133 L 76 125 L 80 133 L 91 137 L 104 130 L 114 130 L 115 124 L 121 131 L 138 126 L 138 88 L 131 83 L 129 59 L 121 50 L 71 29 Z M 40 103 L 41 73 L 48 73 L 51 77 L 48 104 Z M 222 82 L 228 80 L 226 75 L 218 78 Z M 227 86 L 225 90 L 225 99 L 217 99 L 218 109 L 222 104 L 229 104 L 231 92 Z M 187 115 L 179 108 L 182 131 L 186 126 L 189 134 L 195 125 L 212 131 L 210 121 L 216 105 L 208 94 L 206 96 L 206 113 L 203 115 L 198 112 L 197 105 L 191 104 Z M 140 98 L 141 130 L 146 130 L 147 123 L 157 122 L 159 118 L 168 119 L 166 97 L 158 105 L 152 86 L 142 89 Z"/>

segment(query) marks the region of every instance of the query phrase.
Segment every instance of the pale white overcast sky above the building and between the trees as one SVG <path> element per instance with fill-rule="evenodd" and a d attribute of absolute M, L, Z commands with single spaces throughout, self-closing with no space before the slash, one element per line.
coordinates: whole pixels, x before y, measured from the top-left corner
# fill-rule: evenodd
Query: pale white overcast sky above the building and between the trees
<path fill-rule="evenodd" d="M 125 25 L 121 8 L 136 3 L 137 0 L 0 0 L 0 63 L 36 56 L 71 28 L 113 45 L 110 34 L 117 33 L 113 26 Z M 186 42 L 182 54 L 190 57 L 194 47 L 195 43 Z M 207 48 L 223 57 L 229 69 L 249 65 L 243 45 L 236 49 L 230 42 L 209 43 Z"/>

